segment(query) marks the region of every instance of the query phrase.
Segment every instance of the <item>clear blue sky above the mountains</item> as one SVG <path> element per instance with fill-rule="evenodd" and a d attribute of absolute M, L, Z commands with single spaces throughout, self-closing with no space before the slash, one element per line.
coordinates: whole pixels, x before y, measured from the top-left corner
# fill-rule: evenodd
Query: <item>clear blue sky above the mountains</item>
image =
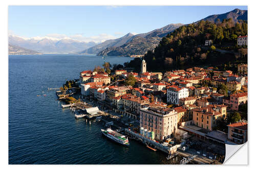
<path fill-rule="evenodd" d="M 9 35 L 103 42 L 247 6 L 9 6 Z"/>

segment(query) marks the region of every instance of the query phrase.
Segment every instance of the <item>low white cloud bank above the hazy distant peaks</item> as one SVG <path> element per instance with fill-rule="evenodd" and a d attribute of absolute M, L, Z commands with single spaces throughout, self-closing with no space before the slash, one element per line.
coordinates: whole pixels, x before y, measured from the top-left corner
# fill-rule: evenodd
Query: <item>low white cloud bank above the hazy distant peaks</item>
<path fill-rule="evenodd" d="M 15 35 L 13 33 L 13 31 L 11 31 L 11 30 L 9 30 L 8 35 L 13 35 L 13 36 L 16 36 L 16 37 L 20 37 L 20 36 Z M 73 40 L 82 41 L 82 42 L 94 41 L 96 43 L 99 43 L 99 42 L 104 42 L 105 40 L 109 40 L 109 39 L 116 39 L 116 38 L 118 38 L 118 36 L 117 36 L 116 33 L 115 33 L 115 36 L 110 35 L 110 34 L 106 34 L 106 33 L 102 33 L 102 34 L 98 34 L 98 35 L 95 35 L 95 36 L 89 36 L 89 37 L 84 36 L 84 34 L 74 34 L 74 35 L 69 35 L 68 36 L 68 35 L 65 35 L 65 34 L 54 33 L 54 34 L 47 34 L 46 36 L 35 36 L 35 37 L 30 37 L 30 38 L 20 37 L 20 38 L 23 38 L 23 39 L 26 39 L 26 40 L 27 39 L 42 40 L 42 39 L 47 38 L 47 39 L 51 39 L 51 40 L 54 40 L 54 41 L 59 41 L 61 39 L 73 39 Z"/>

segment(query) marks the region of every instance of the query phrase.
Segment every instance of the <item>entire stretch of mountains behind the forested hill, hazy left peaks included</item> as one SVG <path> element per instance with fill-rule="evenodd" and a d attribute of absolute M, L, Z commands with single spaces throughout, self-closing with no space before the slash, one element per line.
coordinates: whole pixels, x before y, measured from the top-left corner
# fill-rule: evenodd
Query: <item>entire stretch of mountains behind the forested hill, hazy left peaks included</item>
<path fill-rule="evenodd" d="M 247 20 L 247 10 L 234 9 L 224 14 L 210 15 L 201 20 L 213 22 L 232 18 L 234 22 Z M 200 20 L 199 20 L 200 21 Z M 197 21 L 197 22 L 199 22 Z M 74 39 L 52 40 L 44 38 L 41 40 L 24 39 L 18 36 L 9 36 L 9 44 L 28 48 L 38 53 L 45 54 L 97 54 L 99 56 L 130 56 L 143 55 L 148 50 L 154 50 L 162 37 L 175 29 L 181 27 L 182 23 L 171 23 L 160 29 L 133 35 L 128 33 L 121 38 L 106 40 L 102 43 L 82 42 Z"/>

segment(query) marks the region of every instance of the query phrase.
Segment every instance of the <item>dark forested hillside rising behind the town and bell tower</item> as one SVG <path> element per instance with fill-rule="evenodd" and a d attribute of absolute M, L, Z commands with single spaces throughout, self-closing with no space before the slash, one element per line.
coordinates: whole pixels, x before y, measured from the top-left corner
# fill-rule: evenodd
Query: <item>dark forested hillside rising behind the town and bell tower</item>
<path fill-rule="evenodd" d="M 247 21 L 237 23 L 229 19 L 215 22 L 201 20 L 181 26 L 163 37 L 154 51 L 148 51 L 144 59 L 148 71 L 165 71 L 191 66 L 216 66 L 247 62 L 247 47 L 237 47 L 237 37 L 247 35 Z M 214 45 L 205 46 L 205 40 Z M 140 69 L 140 59 L 125 63 Z"/>

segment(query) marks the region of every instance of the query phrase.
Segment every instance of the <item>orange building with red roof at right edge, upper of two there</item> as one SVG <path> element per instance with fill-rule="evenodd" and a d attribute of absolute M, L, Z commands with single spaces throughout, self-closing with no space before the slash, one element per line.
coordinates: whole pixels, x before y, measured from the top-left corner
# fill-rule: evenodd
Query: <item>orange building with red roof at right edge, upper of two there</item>
<path fill-rule="evenodd" d="M 231 94 L 229 99 L 223 99 L 223 103 L 230 107 L 231 110 L 238 110 L 239 105 L 247 102 L 247 92 Z"/>

